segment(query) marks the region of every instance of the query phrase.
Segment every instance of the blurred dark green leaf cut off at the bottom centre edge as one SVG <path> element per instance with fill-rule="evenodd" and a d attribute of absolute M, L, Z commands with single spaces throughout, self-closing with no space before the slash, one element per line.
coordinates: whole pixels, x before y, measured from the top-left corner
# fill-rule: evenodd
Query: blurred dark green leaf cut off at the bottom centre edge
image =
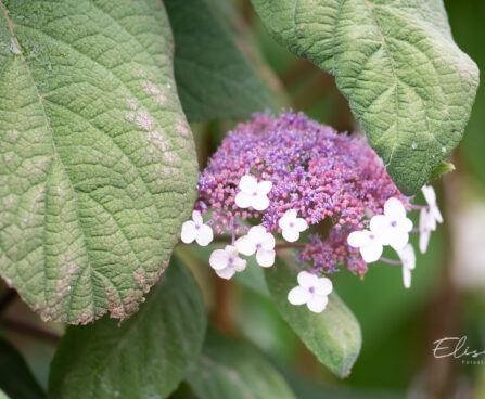
<path fill-rule="evenodd" d="M 201 399 L 294 399 L 283 377 L 251 346 L 210 331 L 186 379 Z"/>

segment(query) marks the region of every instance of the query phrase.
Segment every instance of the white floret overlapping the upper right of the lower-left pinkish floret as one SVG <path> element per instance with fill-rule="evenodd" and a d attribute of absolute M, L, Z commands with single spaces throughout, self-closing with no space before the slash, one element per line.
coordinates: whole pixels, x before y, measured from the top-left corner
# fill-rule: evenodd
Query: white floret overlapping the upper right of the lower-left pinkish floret
<path fill-rule="evenodd" d="M 235 241 L 239 253 L 251 256 L 256 253 L 256 261 L 264 268 L 275 263 L 275 237 L 263 226 L 254 226 L 246 235 Z"/>

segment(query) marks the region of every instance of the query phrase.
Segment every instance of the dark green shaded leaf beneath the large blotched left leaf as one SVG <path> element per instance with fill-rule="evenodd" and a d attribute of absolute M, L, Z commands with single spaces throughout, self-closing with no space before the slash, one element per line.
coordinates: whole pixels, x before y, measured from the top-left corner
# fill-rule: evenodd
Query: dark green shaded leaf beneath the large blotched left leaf
<path fill-rule="evenodd" d="M 205 327 L 200 289 L 174 258 L 122 326 L 103 319 L 67 329 L 52 361 L 49 398 L 166 398 L 199 357 Z"/>

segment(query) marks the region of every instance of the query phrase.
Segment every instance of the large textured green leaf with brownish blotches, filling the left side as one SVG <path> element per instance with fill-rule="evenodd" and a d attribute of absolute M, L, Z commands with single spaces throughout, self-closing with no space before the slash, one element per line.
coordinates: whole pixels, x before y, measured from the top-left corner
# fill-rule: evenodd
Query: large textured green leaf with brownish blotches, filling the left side
<path fill-rule="evenodd" d="M 0 12 L 0 275 L 43 320 L 125 319 L 195 198 L 163 4 Z"/>

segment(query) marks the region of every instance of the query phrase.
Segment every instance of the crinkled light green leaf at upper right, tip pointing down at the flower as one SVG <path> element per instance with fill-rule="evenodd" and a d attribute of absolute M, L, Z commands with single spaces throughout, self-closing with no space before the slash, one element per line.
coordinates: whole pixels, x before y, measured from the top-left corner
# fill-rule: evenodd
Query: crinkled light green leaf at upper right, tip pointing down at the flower
<path fill-rule="evenodd" d="M 478 69 L 442 0 L 252 0 L 273 38 L 335 75 L 370 145 L 407 195 L 460 142 Z"/>

